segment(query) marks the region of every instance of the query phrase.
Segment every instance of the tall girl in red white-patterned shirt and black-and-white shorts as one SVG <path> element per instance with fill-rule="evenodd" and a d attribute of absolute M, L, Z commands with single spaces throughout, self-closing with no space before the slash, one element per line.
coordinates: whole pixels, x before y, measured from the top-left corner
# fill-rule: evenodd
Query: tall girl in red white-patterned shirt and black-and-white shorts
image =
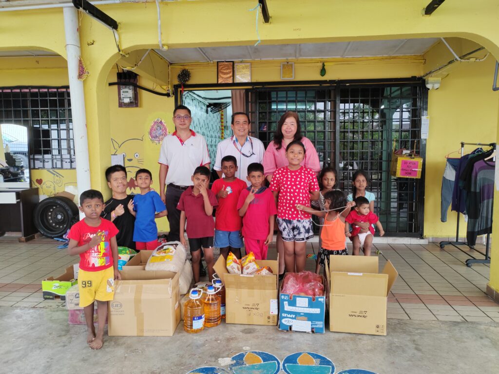
<path fill-rule="evenodd" d="M 301 166 L 305 147 L 293 141 L 286 147 L 289 165 L 277 169 L 270 181 L 270 189 L 277 202 L 277 225 L 284 241 L 284 263 L 287 272 L 305 269 L 306 241 L 313 237 L 310 213 L 299 211 L 296 204 L 310 207 L 310 199 L 319 198 L 315 173 Z"/>

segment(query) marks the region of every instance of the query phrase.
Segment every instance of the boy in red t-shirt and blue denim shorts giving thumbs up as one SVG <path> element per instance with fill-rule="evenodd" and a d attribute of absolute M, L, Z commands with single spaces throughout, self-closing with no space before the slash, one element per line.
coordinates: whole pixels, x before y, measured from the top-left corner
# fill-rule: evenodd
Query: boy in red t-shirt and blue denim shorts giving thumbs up
<path fill-rule="evenodd" d="M 219 206 L 215 212 L 214 247 L 220 248 L 220 254 L 227 259 L 229 251 L 241 258 L 241 226 L 243 221 L 236 205 L 241 191 L 247 187 L 246 182 L 236 178 L 238 162 L 234 156 L 225 156 L 221 162 L 225 178 L 217 179 L 212 191 L 217 195 Z"/>

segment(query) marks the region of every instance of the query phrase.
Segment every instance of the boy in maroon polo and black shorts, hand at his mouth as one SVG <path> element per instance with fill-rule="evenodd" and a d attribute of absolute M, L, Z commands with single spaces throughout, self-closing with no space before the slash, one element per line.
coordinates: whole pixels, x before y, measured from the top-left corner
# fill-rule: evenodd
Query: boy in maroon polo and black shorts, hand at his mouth
<path fill-rule="evenodd" d="M 217 197 L 208 188 L 210 182 L 210 169 L 199 166 L 191 177 L 194 186 L 187 188 L 180 196 L 177 209 L 180 213 L 180 242 L 187 246 L 184 237 L 184 228 L 187 218 L 187 237 L 192 255 L 192 270 L 195 283 L 199 282 L 199 267 L 201 264 L 201 247 L 205 253 L 208 266 L 209 280 L 213 279 L 213 235 L 215 221 L 213 220 L 213 207 L 218 205 Z"/>

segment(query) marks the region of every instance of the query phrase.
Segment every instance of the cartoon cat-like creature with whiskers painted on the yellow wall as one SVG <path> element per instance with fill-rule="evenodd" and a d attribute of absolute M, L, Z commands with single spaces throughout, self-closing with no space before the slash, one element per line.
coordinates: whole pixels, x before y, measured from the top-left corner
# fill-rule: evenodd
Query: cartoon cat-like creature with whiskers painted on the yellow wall
<path fill-rule="evenodd" d="M 125 168 L 127 171 L 128 191 L 133 192 L 135 186 L 135 173 L 137 170 L 144 168 L 144 136 L 139 138 L 126 139 L 123 142 L 118 142 L 111 139 L 111 144 L 114 149 L 113 155 L 125 154 Z"/>

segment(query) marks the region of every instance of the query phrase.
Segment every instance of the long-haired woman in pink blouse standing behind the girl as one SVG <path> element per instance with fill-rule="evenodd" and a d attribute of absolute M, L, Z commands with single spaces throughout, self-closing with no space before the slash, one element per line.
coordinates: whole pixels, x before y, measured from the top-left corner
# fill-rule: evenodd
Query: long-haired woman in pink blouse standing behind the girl
<path fill-rule="evenodd" d="M 289 164 L 286 158 L 286 147 L 294 140 L 299 140 L 303 143 L 306 150 L 305 158 L 300 165 L 312 169 L 315 174 L 320 172 L 319 155 L 317 155 L 312 142 L 301 135 L 298 114 L 296 112 L 286 112 L 277 123 L 277 131 L 274 134 L 274 139 L 268 144 L 263 154 L 264 175 L 269 183 L 277 169 Z M 282 272 L 279 276 L 281 276 L 284 274 L 284 243 L 280 232 L 277 233 L 276 246 L 279 253 L 279 272 Z"/>

